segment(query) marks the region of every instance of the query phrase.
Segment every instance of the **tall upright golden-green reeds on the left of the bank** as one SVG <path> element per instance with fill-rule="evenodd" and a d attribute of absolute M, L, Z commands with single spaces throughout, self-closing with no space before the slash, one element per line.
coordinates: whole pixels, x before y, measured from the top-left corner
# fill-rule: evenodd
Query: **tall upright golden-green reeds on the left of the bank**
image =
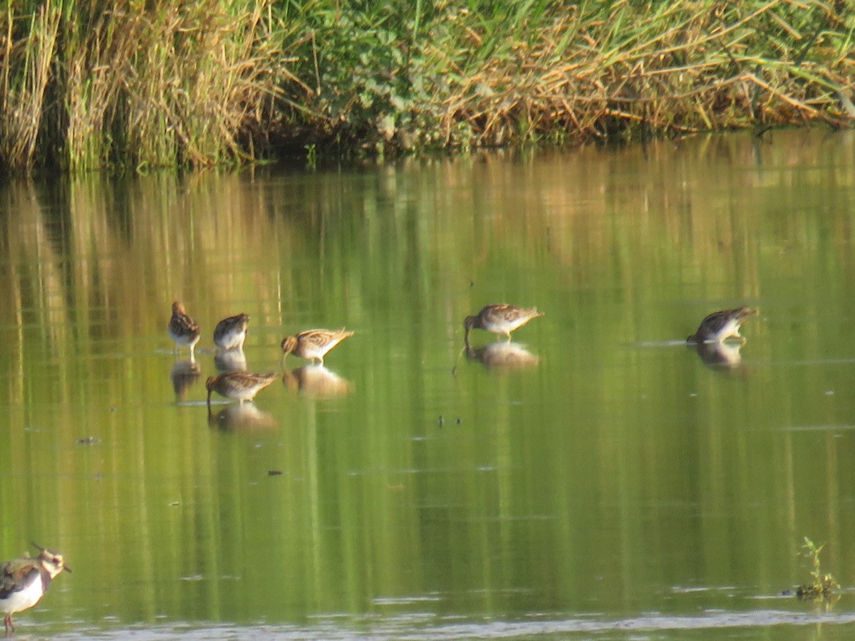
<path fill-rule="evenodd" d="M 12 2 L 4 21 L 11 168 L 241 162 L 279 91 L 266 0 Z"/>

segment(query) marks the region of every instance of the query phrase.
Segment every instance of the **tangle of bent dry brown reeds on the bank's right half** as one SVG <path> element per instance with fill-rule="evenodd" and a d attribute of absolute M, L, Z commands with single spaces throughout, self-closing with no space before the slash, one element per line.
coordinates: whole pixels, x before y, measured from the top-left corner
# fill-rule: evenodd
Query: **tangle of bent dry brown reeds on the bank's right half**
<path fill-rule="evenodd" d="M 492 62 L 463 79 L 445 100 L 447 135 L 461 120 L 469 122 L 477 143 L 488 144 L 512 135 L 520 121 L 535 132 L 548 132 L 556 120 L 564 120 L 583 135 L 603 136 L 615 119 L 690 132 L 744 126 L 754 118 L 822 119 L 840 126 L 850 117 L 841 109 L 839 93 L 846 95 L 852 85 L 840 73 L 851 70 L 851 51 L 837 57 L 835 69 L 799 60 L 795 45 L 775 59 L 758 44 L 760 34 L 765 46 L 783 46 L 764 35 L 767 27 L 758 26 L 763 18 L 774 21 L 796 44 L 799 38 L 806 40 L 775 13 L 797 3 L 771 0 L 746 15 L 728 13 L 727 23 L 723 14 L 711 12 L 710 3 L 696 5 L 694 14 L 685 15 L 691 5 L 675 3 L 638 21 L 626 35 L 578 24 L 579 16 L 569 12 L 539 42 L 512 50 L 520 55 Z M 610 20 L 616 21 L 627 6 L 616 3 Z M 675 23 L 663 28 L 666 17 Z M 582 37 L 557 56 L 556 43 L 564 32 Z"/>

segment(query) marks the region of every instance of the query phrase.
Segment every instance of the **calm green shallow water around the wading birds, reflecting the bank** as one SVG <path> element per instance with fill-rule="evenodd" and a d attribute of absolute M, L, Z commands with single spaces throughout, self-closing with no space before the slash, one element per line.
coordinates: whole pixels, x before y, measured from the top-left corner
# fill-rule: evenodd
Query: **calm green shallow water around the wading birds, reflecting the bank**
<path fill-rule="evenodd" d="M 0 552 L 74 569 L 19 634 L 846 638 L 853 140 L 4 185 Z M 466 353 L 491 302 L 545 316 Z M 283 365 L 315 326 L 356 334 Z"/>

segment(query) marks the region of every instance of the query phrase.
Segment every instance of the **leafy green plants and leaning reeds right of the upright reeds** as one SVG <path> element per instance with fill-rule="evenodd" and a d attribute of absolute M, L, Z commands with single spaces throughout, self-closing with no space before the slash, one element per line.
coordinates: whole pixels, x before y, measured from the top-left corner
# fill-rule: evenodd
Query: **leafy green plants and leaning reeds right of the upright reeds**
<path fill-rule="evenodd" d="M 310 103 L 339 133 L 404 149 L 843 126 L 855 115 L 846 6 L 470 0 L 433 3 L 394 37 L 383 9 L 341 13 Z M 345 41 L 341 27 L 372 35 Z M 354 73 L 342 58 L 385 63 Z"/>

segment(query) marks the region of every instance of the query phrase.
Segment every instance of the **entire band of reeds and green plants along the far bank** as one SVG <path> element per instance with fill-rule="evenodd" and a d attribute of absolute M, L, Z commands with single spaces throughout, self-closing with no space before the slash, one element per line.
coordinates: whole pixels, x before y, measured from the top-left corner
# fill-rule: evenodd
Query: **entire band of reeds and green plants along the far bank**
<path fill-rule="evenodd" d="M 851 0 L 10 0 L 0 21 L 12 170 L 855 117 Z"/>

